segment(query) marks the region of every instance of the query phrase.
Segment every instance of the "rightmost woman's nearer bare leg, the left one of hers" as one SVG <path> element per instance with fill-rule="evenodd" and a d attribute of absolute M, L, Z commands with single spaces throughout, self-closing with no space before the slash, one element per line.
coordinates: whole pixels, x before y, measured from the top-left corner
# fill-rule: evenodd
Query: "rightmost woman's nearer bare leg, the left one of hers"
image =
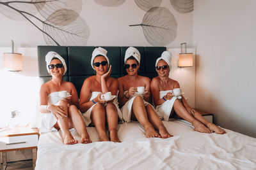
<path fill-rule="evenodd" d="M 212 131 L 210 129 L 208 129 L 207 127 L 205 127 L 204 124 L 202 124 L 201 122 L 199 122 L 196 118 L 194 118 L 187 110 L 186 108 L 184 108 L 183 104 L 179 101 L 176 100 L 173 104 L 173 108 L 175 110 L 175 112 L 177 113 L 177 115 L 179 115 L 179 117 L 184 118 L 185 120 L 187 120 L 188 122 L 190 122 L 193 127 L 195 127 L 195 131 L 198 132 L 204 132 L 204 133 L 212 133 Z"/>

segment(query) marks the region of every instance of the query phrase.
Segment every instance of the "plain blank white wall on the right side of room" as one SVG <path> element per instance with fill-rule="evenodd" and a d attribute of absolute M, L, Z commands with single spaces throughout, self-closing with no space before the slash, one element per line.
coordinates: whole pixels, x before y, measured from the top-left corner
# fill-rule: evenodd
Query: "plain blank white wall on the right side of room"
<path fill-rule="evenodd" d="M 256 1 L 195 0 L 196 108 L 256 137 Z"/>

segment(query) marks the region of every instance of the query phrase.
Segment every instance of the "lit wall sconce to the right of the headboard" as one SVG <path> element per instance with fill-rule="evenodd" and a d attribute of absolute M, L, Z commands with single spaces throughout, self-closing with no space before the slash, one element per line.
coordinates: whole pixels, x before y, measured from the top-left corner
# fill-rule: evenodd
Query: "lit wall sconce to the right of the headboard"
<path fill-rule="evenodd" d="M 185 53 L 183 53 L 182 46 L 185 46 Z M 193 67 L 193 53 L 187 53 L 186 43 L 180 44 L 180 55 L 178 60 L 178 67 Z"/>

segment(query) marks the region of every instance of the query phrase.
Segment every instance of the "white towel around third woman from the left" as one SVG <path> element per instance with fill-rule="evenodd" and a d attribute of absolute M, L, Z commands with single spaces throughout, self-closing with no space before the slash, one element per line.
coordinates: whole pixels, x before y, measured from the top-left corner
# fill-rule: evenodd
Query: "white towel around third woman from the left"
<path fill-rule="evenodd" d="M 126 93 L 127 91 L 124 92 L 124 94 Z M 123 115 L 123 120 L 124 122 L 127 122 L 127 123 L 130 123 L 131 122 L 131 115 L 132 115 L 132 104 L 133 104 L 133 101 L 135 99 L 136 96 L 140 96 L 138 94 L 134 94 L 134 96 L 131 97 L 131 99 L 129 99 L 129 101 L 127 101 L 124 106 L 121 108 L 121 111 L 122 111 L 122 115 Z M 150 106 L 152 106 L 150 103 L 148 103 L 147 101 L 143 100 L 144 101 L 144 105 L 147 106 L 148 104 Z M 152 106 L 152 108 L 155 110 L 154 106 Z"/>

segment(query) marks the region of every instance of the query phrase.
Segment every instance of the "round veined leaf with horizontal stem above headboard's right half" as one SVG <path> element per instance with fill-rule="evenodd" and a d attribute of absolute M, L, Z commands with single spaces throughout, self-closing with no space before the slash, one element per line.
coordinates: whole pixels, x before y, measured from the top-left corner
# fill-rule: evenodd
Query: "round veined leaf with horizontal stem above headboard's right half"
<path fill-rule="evenodd" d="M 142 26 L 145 38 L 153 46 L 168 45 L 177 36 L 177 22 L 167 8 L 151 8 L 144 15 L 142 23 L 136 25 Z"/>

